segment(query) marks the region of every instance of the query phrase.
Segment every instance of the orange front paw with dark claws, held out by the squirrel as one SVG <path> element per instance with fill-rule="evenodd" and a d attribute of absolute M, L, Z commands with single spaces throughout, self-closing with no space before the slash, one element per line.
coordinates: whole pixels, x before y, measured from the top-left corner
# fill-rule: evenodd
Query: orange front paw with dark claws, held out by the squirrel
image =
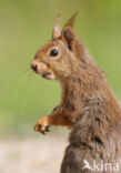
<path fill-rule="evenodd" d="M 38 131 L 39 133 L 46 134 L 46 132 L 49 132 L 49 125 L 47 124 L 47 118 L 42 118 L 39 120 L 39 122 L 34 126 L 34 131 Z"/>

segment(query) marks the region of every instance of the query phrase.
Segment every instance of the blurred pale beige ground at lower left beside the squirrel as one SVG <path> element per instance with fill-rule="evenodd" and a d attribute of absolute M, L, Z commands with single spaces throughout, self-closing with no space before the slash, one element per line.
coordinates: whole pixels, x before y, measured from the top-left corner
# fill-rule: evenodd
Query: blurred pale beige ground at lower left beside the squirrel
<path fill-rule="evenodd" d="M 0 141 L 0 173 L 59 173 L 65 136 Z"/>

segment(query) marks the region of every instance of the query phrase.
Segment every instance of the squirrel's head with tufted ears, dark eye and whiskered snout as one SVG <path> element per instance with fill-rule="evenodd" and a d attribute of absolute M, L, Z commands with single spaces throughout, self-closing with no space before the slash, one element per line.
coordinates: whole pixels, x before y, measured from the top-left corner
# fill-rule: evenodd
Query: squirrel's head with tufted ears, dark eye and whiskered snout
<path fill-rule="evenodd" d="M 38 50 L 31 63 L 34 72 L 49 80 L 63 80 L 71 75 L 82 57 L 81 44 L 73 31 L 74 13 L 64 24 L 62 31 L 59 28 L 58 14 L 52 31 L 52 40 Z"/>

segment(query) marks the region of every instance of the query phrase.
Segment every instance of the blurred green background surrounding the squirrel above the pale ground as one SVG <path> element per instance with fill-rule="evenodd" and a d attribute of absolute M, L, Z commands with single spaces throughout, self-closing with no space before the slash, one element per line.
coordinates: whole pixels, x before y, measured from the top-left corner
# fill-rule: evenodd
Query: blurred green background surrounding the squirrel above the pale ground
<path fill-rule="evenodd" d="M 58 82 L 34 74 L 36 51 L 77 10 L 75 31 L 121 96 L 120 0 L 0 0 L 0 136 L 34 134 L 33 125 L 60 100 Z"/>

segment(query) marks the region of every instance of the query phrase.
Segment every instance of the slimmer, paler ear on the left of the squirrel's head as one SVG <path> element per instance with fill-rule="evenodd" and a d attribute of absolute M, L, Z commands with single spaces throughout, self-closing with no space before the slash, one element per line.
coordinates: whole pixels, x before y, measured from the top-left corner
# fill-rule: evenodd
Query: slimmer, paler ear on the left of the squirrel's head
<path fill-rule="evenodd" d="M 52 39 L 57 39 L 61 35 L 60 26 L 59 26 L 60 16 L 61 16 L 61 13 L 59 12 L 56 18 L 54 28 L 52 31 Z"/>

